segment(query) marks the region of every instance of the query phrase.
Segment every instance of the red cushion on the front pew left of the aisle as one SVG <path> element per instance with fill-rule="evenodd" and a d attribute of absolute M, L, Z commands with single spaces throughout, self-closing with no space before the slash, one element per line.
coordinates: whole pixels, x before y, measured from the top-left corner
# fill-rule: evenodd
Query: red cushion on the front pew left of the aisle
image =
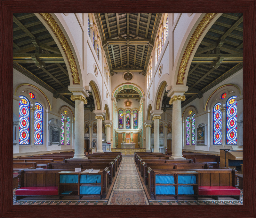
<path fill-rule="evenodd" d="M 58 195 L 58 186 L 31 186 L 16 190 L 16 195 Z"/>

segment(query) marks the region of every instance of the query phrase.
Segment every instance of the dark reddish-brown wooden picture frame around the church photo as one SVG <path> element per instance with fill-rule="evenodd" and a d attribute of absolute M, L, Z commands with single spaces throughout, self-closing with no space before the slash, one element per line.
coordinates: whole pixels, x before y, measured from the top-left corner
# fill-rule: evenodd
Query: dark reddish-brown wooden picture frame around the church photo
<path fill-rule="evenodd" d="M 255 0 L 0 0 L 0 217 L 256 217 L 256 7 Z M 31 12 L 244 13 L 243 206 L 15 206 L 12 205 L 12 13 Z"/>

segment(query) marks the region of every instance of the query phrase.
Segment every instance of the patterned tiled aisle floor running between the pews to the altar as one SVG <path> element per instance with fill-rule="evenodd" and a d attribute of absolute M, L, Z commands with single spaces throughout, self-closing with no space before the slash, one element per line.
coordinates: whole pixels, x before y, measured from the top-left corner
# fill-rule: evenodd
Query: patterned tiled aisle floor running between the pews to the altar
<path fill-rule="evenodd" d="M 123 156 L 108 205 L 149 205 L 134 156 Z"/>

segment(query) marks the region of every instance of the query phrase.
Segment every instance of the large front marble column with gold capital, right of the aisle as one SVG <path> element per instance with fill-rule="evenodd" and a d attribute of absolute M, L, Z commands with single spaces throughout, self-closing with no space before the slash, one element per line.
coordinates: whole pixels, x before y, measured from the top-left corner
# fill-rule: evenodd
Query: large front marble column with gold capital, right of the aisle
<path fill-rule="evenodd" d="M 169 159 L 183 159 L 182 157 L 182 128 L 181 128 L 181 101 L 185 101 L 184 95 L 174 95 L 169 104 L 172 106 L 172 156 Z"/>

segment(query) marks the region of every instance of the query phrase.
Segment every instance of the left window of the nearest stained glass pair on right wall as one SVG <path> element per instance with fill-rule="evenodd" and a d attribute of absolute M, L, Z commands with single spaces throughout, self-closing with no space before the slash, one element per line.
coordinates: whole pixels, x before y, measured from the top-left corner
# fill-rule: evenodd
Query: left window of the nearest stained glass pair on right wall
<path fill-rule="evenodd" d="M 221 103 L 213 106 L 213 145 L 221 145 L 222 137 L 222 113 L 220 111 Z"/>

